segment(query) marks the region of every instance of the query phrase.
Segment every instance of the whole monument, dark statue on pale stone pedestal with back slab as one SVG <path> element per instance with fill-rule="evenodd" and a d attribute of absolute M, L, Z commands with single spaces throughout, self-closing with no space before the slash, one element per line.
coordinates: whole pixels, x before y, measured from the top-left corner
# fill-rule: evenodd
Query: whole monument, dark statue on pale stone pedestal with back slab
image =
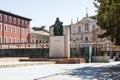
<path fill-rule="evenodd" d="M 49 57 L 70 57 L 69 26 L 63 27 L 62 24 L 57 18 L 55 24 L 50 27 Z"/>

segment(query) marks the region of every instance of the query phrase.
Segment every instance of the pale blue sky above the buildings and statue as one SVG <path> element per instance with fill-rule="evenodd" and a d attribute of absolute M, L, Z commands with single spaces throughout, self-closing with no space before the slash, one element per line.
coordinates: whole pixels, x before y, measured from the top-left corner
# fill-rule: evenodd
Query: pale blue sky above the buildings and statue
<path fill-rule="evenodd" d="M 95 15 L 94 0 L 0 0 L 0 9 L 20 16 L 31 18 L 31 27 L 53 25 L 56 17 L 63 25 L 75 23 L 77 17 L 85 17 L 86 8 L 89 16 Z"/>

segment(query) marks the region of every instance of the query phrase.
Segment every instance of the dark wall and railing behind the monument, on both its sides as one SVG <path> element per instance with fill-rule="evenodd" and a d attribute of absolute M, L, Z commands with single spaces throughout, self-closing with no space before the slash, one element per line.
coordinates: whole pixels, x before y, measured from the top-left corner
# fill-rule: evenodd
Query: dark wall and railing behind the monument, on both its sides
<path fill-rule="evenodd" d="M 86 45 L 86 44 L 85 44 Z M 92 44 L 92 56 L 104 56 L 108 54 L 110 58 L 120 53 L 119 46 L 107 44 Z M 70 49 L 71 58 L 87 58 L 88 49 L 86 47 L 74 47 Z M 118 55 L 119 56 L 119 55 Z M 0 44 L 0 57 L 49 57 L 48 43 L 5 43 Z"/>

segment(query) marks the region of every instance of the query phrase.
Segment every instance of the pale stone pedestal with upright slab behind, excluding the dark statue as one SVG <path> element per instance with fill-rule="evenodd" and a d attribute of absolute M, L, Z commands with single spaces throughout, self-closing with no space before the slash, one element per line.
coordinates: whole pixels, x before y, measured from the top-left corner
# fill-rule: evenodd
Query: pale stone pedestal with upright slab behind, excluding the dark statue
<path fill-rule="evenodd" d="M 63 27 L 63 36 L 54 36 L 53 28 L 50 28 L 49 57 L 69 58 L 70 57 L 70 27 Z"/>

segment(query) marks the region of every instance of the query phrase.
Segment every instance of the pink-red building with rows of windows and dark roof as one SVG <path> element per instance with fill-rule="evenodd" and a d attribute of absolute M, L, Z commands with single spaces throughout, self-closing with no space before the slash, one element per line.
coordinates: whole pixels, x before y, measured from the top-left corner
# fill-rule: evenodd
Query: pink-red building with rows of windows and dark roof
<path fill-rule="evenodd" d="M 30 42 L 30 18 L 0 10 L 0 43 Z"/>

